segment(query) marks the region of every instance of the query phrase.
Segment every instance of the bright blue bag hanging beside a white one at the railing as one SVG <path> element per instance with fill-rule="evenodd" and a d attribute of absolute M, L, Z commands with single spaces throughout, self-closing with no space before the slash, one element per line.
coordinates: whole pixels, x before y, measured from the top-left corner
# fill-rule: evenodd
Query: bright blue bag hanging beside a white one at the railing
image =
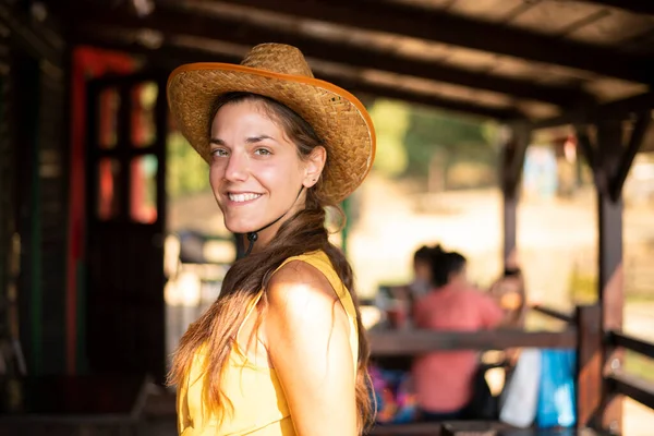
<path fill-rule="evenodd" d="M 577 422 L 574 350 L 542 350 L 536 424 L 540 428 L 571 427 Z"/>

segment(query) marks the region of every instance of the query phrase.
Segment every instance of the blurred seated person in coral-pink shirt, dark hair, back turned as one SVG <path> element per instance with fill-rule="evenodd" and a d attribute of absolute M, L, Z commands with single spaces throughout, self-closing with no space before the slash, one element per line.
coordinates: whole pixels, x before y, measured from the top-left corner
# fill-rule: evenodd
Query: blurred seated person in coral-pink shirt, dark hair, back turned
<path fill-rule="evenodd" d="M 432 330 L 474 331 L 498 326 L 501 308 L 468 281 L 465 257 L 432 250 L 432 290 L 414 307 L 414 323 Z M 417 358 L 412 367 L 422 415 L 428 421 L 467 417 L 477 370 L 474 351 L 443 351 Z"/>

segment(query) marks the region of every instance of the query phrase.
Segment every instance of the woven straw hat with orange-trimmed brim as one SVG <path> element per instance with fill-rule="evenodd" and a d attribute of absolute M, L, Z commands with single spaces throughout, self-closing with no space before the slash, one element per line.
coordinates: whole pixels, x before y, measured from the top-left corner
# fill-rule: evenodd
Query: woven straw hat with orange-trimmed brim
<path fill-rule="evenodd" d="M 249 92 L 295 111 L 325 141 L 327 166 L 317 189 L 340 202 L 365 179 L 375 157 L 375 131 L 364 106 L 347 90 L 314 78 L 302 52 L 281 44 L 254 47 L 240 65 L 191 63 L 168 80 L 168 102 L 179 129 L 210 161 L 211 108 L 218 96 Z"/>

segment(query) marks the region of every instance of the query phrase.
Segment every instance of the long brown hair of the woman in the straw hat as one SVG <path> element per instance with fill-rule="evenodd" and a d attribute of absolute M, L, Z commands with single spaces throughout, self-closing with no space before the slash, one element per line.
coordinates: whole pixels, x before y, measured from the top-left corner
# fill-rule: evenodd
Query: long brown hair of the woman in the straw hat
<path fill-rule="evenodd" d="M 306 159 L 315 147 L 323 145 L 312 126 L 299 114 L 276 100 L 256 94 L 226 94 L 216 102 L 214 114 L 227 104 L 244 100 L 262 102 L 262 108 L 274 121 L 279 123 L 288 138 L 296 145 L 301 159 Z M 329 165 L 329 156 L 327 156 L 326 165 Z M 361 433 L 364 426 L 371 422 L 372 404 L 367 374 L 370 350 L 354 292 L 352 268 L 340 249 L 329 242 L 325 228 L 326 207 L 335 207 L 341 216 L 342 210 L 338 205 L 319 197 L 317 187 L 320 183 L 323 183 L 322 179 L 316 185 L 306 190 L 304 209 L 283 222 L 268 245 L 232 265 L 222 282 L 220 295 L 189 327 L 173 356 L 169 383 L 181 385 L 190 375 L 195 352 L 199 347 L 205 347 L 204 352 L 209 358 L 203 375 L 205 387 L 203 396 L 206 409 L 216 413 L 218 419 L 221 419 L 222 411 L 230 407 L 229 398 L 220 389 L 220 378 L 230 352 L 235 346 L 238 330 L 245 319 L 249 305 L 261 290 L 266 289 L 272 272 L 287 258 L 322 250 L 329 257 L 338 277 L 350 291 L 356 308 L 359 362 L 355 390 L 359 432 Z M 266 303 L 265 294 L 261 302 L 262 304 Z"/>

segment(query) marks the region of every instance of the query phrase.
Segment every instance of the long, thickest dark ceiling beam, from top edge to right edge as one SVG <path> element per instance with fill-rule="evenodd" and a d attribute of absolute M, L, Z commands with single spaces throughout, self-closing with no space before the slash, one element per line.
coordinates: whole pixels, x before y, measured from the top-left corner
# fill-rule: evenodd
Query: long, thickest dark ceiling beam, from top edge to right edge
<path fill-rule="evenodd" d="M 192 0 L 207 3 L 207 0 Z M 632 82 L 654 82 L 654 62 L 596 45 L 378 0 L 228 0 L 263 11 L 449 44 Z"/>

